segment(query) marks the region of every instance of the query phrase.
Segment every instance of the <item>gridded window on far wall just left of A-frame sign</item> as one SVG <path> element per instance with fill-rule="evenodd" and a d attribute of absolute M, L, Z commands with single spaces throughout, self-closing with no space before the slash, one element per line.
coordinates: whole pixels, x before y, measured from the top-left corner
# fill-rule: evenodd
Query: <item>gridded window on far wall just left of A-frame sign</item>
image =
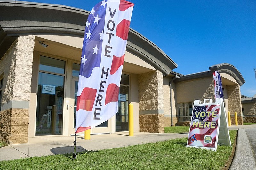
<path fill-rule="evenodd" d="M 191 120 L 193 102 L 178 103 L 179 106 L 179 122 L 186 122 Z"/>

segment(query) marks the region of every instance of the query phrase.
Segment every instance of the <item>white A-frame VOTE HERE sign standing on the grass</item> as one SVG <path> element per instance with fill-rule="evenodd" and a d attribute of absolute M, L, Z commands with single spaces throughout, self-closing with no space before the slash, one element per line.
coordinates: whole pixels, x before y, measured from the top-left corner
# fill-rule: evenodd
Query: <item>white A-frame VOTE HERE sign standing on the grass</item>
<path fill-rule="evenodd" d="M 187 147 L 211 149 L 217 144 L 231 146 L 226 112 L 222 98 L 194 101 Z"/>

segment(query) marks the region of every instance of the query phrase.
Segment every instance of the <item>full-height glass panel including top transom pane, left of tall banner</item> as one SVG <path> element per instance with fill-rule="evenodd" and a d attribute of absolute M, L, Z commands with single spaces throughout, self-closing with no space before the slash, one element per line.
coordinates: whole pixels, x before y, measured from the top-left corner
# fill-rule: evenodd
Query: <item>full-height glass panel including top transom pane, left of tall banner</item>
<path fill-rule="evenodd" d="M 36 135 L 61 135 L 65 61 L 40 57 Z"/>

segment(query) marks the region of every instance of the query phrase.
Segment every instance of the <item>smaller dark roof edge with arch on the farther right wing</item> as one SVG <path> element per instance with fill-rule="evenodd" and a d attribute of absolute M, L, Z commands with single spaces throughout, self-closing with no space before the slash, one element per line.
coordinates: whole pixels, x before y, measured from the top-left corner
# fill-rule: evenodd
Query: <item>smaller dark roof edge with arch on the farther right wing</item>
<path fill-rule="evenodd" d="M 220 74 L 221 73 L 226 73 L 230 75 L 232 78 L 236 80 L 236 82 L 241 86 L 245 83 L 245 80 L 241 73 L 236 69 L 231 64 L 228 63 L 222 63 L 222 64 L 217 64 L 209 67 L 210 71 L 204 71 L 204 72 L 199 72 L 199 73 L 194 73 L 194 74 L 188 74 L 181 76 L 180 78 L 176 79 L 175 82 L 179 81 L 185 81 L 185 80 L 192 80 L 196 78 L 204 78 L 204 77 L 209 77 L 212 76 L 212 73 L 214 71 L 218 71 Z"/>

